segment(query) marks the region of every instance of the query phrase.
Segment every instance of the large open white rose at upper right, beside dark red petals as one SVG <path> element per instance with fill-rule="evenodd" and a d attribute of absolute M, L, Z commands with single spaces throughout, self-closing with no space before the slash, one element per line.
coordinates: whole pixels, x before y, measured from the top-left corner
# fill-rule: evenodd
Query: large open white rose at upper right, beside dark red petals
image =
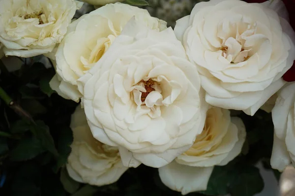
<path fill-rule="evenodd" d="M 198 67 L 209 104 L 254 115 L 285 84 L 295 33 L 269 4 L 210 0 L 177 21 L 175 33 Z"/>

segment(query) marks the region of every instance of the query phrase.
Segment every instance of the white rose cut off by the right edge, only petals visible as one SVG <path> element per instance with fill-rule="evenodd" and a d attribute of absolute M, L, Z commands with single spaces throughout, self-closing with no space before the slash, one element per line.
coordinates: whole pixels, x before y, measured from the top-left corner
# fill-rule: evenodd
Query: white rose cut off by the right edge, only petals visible
<path fill-rule="evenodd" d="M 286 85 L 278 94 L 272 109 L 274 138 L 271 167 L 279 171 L 293 163 L 295 166 L 295 82 Z"/>

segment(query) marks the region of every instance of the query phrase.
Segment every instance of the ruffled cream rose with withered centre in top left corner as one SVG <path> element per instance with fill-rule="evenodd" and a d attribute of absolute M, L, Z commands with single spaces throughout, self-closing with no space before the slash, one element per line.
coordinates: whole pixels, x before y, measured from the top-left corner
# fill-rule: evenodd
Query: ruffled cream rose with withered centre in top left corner
<path fill-rule="evenodd" d="M 32 57 L 60 43 L 82 2 L 0 0 L 0 42 L 5 55 Z"/>

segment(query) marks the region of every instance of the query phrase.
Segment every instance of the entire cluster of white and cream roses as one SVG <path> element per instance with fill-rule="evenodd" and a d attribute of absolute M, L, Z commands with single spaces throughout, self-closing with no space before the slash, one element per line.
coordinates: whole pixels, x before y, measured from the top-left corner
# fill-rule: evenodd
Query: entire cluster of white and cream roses
<path fill-rule="evenodd" d="M 247 143 L 233 110 L 272 111 L 270 165 L 295 163 L 294 4 L 199 2 L 173 29 L 146 9 L 85 1 L 101 7 L 77 20 L 76 0 L 0 1 L 1 57 L 44 54 L 56 71 L 50 87 L 80 103 L 72 179 L 108 185 L 143 164 L 182 195 L 206 191 L 214 167 Z"/>

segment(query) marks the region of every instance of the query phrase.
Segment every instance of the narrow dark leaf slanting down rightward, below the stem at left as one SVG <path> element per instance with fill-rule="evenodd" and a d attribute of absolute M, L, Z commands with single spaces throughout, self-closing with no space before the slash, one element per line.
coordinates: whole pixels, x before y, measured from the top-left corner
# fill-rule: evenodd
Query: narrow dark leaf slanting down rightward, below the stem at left
<path fill-rule="evenodd" d="M 58 157 L 59 153 L 55 147 L 54 140 L 49 132 L 49 127 L 43 121 L 36 121 L 36 125 L 31 125 L 31 132 L 38 138 L 44 148 Z"/>

